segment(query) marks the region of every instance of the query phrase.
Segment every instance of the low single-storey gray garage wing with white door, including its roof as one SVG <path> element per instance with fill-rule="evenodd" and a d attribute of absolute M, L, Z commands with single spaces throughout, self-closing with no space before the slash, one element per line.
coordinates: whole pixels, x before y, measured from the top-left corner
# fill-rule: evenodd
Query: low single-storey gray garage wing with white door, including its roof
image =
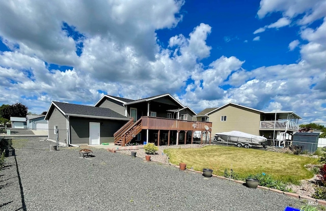
<path fill-rule="evenodd" d="M 129 118 L 108 108 L 52 102 L 45 119 L 48 138 L 68 146 L 113 142 L 114 133 Z M 58 130 L 57 130 L 58 129 Z"/>

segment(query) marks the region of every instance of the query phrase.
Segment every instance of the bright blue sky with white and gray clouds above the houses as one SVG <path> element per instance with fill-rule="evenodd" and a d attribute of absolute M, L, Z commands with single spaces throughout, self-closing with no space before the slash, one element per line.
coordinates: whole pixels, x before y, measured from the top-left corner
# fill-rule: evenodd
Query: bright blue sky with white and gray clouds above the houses
<path fill-rule="evenodd" d="M 2 1 L 0 104 L 170 93 L 326 125 L 326 1 Z"/>

